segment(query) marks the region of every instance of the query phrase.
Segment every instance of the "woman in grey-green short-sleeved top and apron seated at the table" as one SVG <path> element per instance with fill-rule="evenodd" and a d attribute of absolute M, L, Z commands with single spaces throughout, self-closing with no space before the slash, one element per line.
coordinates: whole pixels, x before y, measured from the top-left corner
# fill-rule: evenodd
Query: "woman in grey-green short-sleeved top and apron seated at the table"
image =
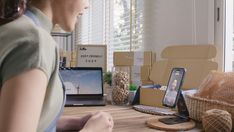
<path fill-rule="evenodd" d="M 53 132 L 56 124 L 58 131 L 112 130 L 104 112 L 59 118 L 65 96 L 50 32 L 54 24 L 72 31 L 86 6 L 87 0 L 0 0 L 0 132 Z"/>

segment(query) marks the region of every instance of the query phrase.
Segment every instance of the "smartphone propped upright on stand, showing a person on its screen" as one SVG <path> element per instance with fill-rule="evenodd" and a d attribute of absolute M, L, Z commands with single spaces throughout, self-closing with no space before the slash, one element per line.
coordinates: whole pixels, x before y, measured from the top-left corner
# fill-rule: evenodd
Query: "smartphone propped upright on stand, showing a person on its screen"
<path fill-rule="evenodd" d="M 168 80 L 167 89 L 163 98 L 163 105 L 174 108 L 180 95 L 180 88 L 183 83 L 185 68 L 173 68 Z"/>

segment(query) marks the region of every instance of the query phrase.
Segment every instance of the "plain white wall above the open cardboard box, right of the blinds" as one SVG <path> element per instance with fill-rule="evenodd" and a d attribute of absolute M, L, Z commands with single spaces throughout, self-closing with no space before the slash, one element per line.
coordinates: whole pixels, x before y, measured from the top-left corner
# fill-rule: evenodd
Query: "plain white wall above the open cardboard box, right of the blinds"
<path fill-rule="evenodd" d="M 155 51 L 160 59 L 169 45 L 213 43 L 212 1 L 145 0 L 144 50 Z"/>

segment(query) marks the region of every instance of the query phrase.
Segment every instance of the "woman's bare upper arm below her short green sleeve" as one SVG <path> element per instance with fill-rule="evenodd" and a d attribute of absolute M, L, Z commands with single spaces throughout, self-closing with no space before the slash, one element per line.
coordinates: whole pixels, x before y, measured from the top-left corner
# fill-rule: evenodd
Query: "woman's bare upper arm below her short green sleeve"
<path fill-rule="evenodd" d="M 1 89 L 0 132 L 35 132 L 47 87 L 39 69 L 7 80 Z"/>

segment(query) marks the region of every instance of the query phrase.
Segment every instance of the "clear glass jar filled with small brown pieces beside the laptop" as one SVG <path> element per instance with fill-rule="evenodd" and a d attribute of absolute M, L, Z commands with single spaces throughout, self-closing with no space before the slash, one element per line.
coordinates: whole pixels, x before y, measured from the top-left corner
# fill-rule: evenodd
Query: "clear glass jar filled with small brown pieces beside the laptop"
<path fill-rule="evenodd" d="M 129 67 L 113 67 L 112 69 L 112 104 L 128 105 Z"/>

